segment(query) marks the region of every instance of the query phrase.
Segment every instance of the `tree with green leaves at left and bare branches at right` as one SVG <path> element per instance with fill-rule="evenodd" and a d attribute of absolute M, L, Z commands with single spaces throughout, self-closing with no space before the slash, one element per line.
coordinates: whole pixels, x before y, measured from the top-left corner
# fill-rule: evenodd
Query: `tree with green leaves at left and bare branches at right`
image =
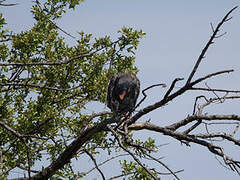
<path fill-rule="evenodd" d="M 3 2 L 0 1 L 0 5 Z M 118 122 L 109 111 L 88 114 L 84 108 L 92 101 L 105 102 L 107 84 L 112 75 L 124 71 L 137 73 L 134 54 L 145 33 L 124 27 L 119 31 L 119 37 L 113 40 L 109 36 L 93 39 L 91 34 L 79 32 L 77 45 L 69 46 L 59 35 L 59 31 L 66 32 L 55 22 L 65 11 L 79 3 L 73 0 L 36 1 L 32 7 L 34 26 L 18 34 L 10 33 L 5 28 L 6 22 L 1 16 L 1 178 L 7 178 L 12 170 L 20 168 L 28 174 L 20 179 L 78 179 L 87 172 L 74 171 L 71 159 L 86 155 L 93 161 L 102 179 L 105 179 L 104 172 L 99 168 L 101 164 L 97 164 L 95 159 L 95 155 L 104 150 L 108 152 L 109 161 L 114 159 L 115 151 L 125 152 L 133 159 L 121 161 L 122 174 L 114 175 L 112 179 L 123 176 L 159 179 L 161 173 L 146 165 L 144 159 L 157 162 L 179 179 L 178 171 L 171 170 L 154 157 L 159 150 L 154 139 L 149 137 L 143 141 L 133 138 L 134 133 L 140 130 L 164 134 L 187 146 L 199 144 L 239 173 L 239 161 L 225 153 L 222 144 L 231 142 L 234 146 L 240 146 L 235 136 L 240 116 L 208 115 L 205 108 L 214 103 L 238 99 L 239 96 L 233 94 L 240 91 L 200 86 L 207 79 L 233 70 L 195 77 L 207 50 L 214 40 L 223 35 L 219 34 L 220 28 L 231 19 L 230 14 L 237 7 L 230 10 L 215 28 L 212 26 L 212 36 L 180 89 L 176 89 L 175 85 L 184 79 L 176 78 L 161 100 Z M 147 90 L 156 86 L 166 85 L 156 84 L 145 88 L 142 91 L 144 99 L 139 100 L 139 104 L 147 97 Z M 164 127 L 150 121 L 139 122 L 144 115 L 166 106 L 188 91 L 199 92 L 192 115 Z M 207 98 L 201 94 L 202 91 L 215 95 Z M 219 96 L 219 92 L 224 95 Z M 230 132 L 218 132 L 217 128 L 213 132 L 208 131 L 209 126 L 217 127 L 218 123 L 226 123 L 229 128 L 235 127 Z M 202 130 L 203 126 L 206 131 L 196 131 Z M 216 140 L 222 141 L 219 143 Z M 38 161 L 46 158 L 50 161 L 49 166 L 34 169 Z"/>

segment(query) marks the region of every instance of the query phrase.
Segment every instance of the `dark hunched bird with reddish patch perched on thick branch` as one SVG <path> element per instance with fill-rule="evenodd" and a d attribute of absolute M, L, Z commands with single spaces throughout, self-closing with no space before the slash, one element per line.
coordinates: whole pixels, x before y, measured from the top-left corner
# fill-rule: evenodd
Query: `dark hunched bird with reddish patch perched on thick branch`
<path fill-rule="evenodd" d="M 120 116 L 132 112 L 135 108 L 140 90 L 140 81 L 130 73 L 113 76 L 108 84 L 107 106 Z"/>

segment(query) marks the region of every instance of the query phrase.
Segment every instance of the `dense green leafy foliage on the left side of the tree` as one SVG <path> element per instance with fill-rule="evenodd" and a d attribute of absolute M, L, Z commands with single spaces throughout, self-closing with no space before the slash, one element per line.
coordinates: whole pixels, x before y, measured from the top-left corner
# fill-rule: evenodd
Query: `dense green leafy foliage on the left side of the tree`
<path fill-rule="evenodd" d="M 134 54 L 145 35 L 141 30 L 123 27 L 115 40 L 79 32 L 74 46 L 59 35 L 54 21 L 80 2 L 36 2 L 31 10 L 35 24 L 21 33 L 9 34 L 0 15 L 0 62 L 16 63 L 0 67 L 0 121 L 11 128 L 0 128 L 2 178 L 16 167 L 27 169 L 28 159 L 31 166 L 55 160 L 86 125 L 86 105 L 105 102 L 109 77 L 137 72 Z M 110 153 L 108 146 L 115 142 L 108 138 L 98 133 L 86 149 L 95 154 L 97 146 L 104 146 Z M 57 176 L 73 177 L 71 166 Z"/>

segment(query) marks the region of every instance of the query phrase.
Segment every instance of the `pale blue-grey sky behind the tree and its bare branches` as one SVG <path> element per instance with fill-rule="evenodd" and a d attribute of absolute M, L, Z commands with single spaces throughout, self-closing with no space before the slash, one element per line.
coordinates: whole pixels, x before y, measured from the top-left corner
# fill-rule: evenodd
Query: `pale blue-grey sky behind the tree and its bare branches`
<path fill-rule="evenodd" d="M 14 7 L 0 7 L 9 28 L 13 32 L 29 29 L 34 21 L 31 18 L 31 0 L 7 1 L 18 2 Z M 176 77 L 187 78 L 197 60 L 202 48 L 208 41 L 212 30 L 210 23 L 216 26 L 221 18 L 234 6 L 240 5 L 239 0 L 85 0 L 74 11 L 69 11 L 57 24 L 77 36 L 77 32 L 92 33 L 96 37 L 110 35 L 117 37 L 117 31 L 123 26 L 142 29 L 146 36 L 140 41 L 136 53 L 136 66 L 139 69 L 138 78 L 141 89 L 152 84 L 166 83 L 168 86 Z M 196 77 L 208 73 L 234 69 L 234 73 L 219 76 L 207 81 L 212 88 L 240 89 L 240 8 L 233 14 L 233 19 L 224 24 L 221 33 L 227 32 L 215 40 L 201 63 Z M 64 36 L 64 34 L 62 34 Z M 71 45 L 74 41 L 66 37 Z M 178 83 L 180 87 L 183 83 Z M 203 87 L 204 84 L 202 84 Z M 176 88 L 177 88 L 176 87 Z M 146 101 L 141 108 L 161 99 L 165 89 L 149 90 Z M 164 126 L 177 122 L 192 113 L 195 97 L 202 92 L 187 92 L 185 95 L 170 102 L 167 106 L 142 117 L 139 121 L 151 119 L 152 123 Z M 214 97 L 208 94 L 208 97 Z M 224 105 L 214 105 L 207 110 L 213 114 L 239 114 L 237 101 Z M 91 105 L 90 112 L 101 111 L 102 106 Z M 207 111 L 206 111 L 207 112 Z M 224 130 L 224 127 L 219 127 Z M 237 180 L 239 176 L 222 167 L 215 156 L 206 148 L 191 144 L 191 147 L 181 145 L 173 138 L 151 132 L 137 132 L 136 137 L 152 137 L 158 145 L 168 144 L 159 149 L 158 156 L 173 170 L 184 169 L 179 177 L 184 180 Z M 239 136 L 238 136 L 239 137 Z M 228 144 L 225 150 L 240 159 L 239 149 Z M 99 162 L 103 158 L 98 159 Z M 86 168 L 86 159 L 74 162 L 75 166 Z M 87 161 L 89 167 L 92 162 Z M 88 166 L 87 166 L 88 167 Z M 103 166 L 103 172 L 118 172 L 111 166 Z M 87 179 L 99 179 L 99 174 L 91 173 Z M 173 179 L 163 176 L 163 180 Z"/>

